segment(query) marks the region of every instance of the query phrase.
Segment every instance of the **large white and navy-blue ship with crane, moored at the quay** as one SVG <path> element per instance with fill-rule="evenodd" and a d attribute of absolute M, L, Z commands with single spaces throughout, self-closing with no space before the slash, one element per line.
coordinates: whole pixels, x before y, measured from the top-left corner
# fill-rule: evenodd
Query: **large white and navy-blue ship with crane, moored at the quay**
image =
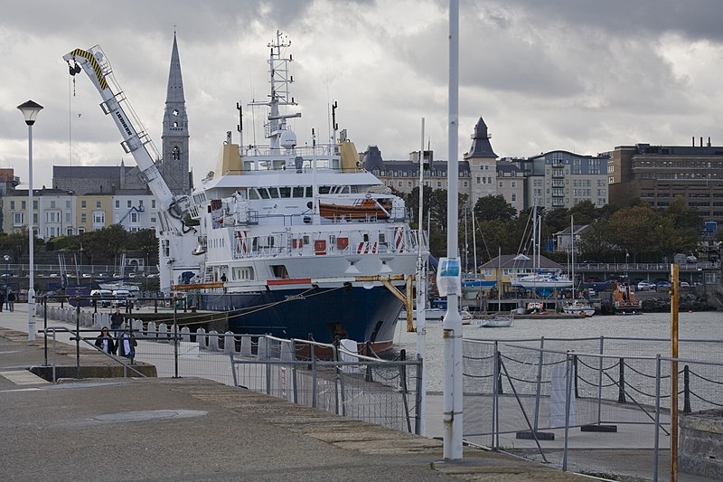
<path fill-rule="evenodd" d="M 112 79 L 99 46 L 63 58 L 86 71 L 133 153 L 160 216 L 159 266 L 164 291 L 191 293 L 200 309 L 228 312 L 230 329 L 285 338 L 335 337 L 392 345 L 404 304 L 411 307 L 418 240 L 404 201 L 365 171 L 354 144 L 336 128 L 330 142 L 297 145 L 288 120 L 290 43 L 268 44 L 268 145 L 239 144 L 227 133 L 216 169 L 190 197 L 174 196 L 159 175 L 152 144 Z M 111 81 L 112 80 L 112 81 Z M 408 311 L 411 311 L 409 309 Z"/>

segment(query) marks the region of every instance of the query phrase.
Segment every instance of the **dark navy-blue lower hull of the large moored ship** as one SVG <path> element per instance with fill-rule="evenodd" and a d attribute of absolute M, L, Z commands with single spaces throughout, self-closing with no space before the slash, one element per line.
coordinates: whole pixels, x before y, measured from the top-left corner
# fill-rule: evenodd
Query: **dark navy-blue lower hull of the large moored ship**
<path fill-rule="evenodd" d="M 333 343 L 334 338 L 391 347 L 402 303 L 389 289 L 277 289 L 201 294 L 199 307 L 229 314 L 229 328 L 244 335 L 272 335 Z"/>

